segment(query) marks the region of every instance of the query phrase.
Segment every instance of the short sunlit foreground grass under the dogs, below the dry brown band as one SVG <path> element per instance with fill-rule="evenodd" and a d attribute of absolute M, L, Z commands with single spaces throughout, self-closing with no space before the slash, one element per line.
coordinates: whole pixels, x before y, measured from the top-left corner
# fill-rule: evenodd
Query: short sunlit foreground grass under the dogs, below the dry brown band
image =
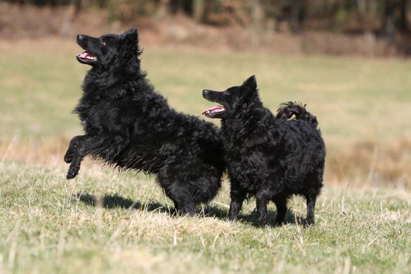
<path fill-rule="evenodd" d="M 67 182 L 64 171 L 0 165 L 0 271 L 411 271 L 409 192 L 348 187 L 344 195 L 344 188 L 327 186 L 314 226 L 295 224 L 305 204 L 294 198 L 288 223 L 272 227 L 254 223 L 253 200 L 244 204 L 242 221 L 227 221 L 227 182 L 204 206 L 206 217 L 174 218 L 171 201 L 144 176 L 89 169 Z M 92 195 L 106 197 L 106 208 L 84 202 Z M 133 202 L 137 208 L 129 209 Z"/>

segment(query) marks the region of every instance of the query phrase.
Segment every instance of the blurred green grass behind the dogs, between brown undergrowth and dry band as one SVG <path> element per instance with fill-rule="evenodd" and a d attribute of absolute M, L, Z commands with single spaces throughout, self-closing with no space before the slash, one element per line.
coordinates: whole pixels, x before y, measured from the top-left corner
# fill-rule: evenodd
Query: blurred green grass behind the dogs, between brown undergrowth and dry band
<path fill-rule="evenodd" d="M 88 66 L 73 41 L 2 42 L 0 135 L 66 136 L 81 131 L 71 110 Z M 200 115 L 204 88 L 222 90 L 256 74 L 266 106 L 295 100 L 317 115 L 326 141 L 411 134 L 411 63 L 321 56 L 280 56 L 146 47 L 142 68 L 172 107 Z"/>

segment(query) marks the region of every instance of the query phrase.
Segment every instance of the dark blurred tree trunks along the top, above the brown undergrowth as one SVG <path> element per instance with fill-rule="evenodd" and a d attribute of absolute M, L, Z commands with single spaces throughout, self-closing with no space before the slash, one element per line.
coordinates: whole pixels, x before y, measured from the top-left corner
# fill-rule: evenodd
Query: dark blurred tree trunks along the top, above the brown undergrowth
<path fill-rule="evenodd" d="M 341 32 L 408 32 L 409 0 L 9 0 L 20 5 L 107 9 L 111 21 L 182 13 L 213 25 Z"/>

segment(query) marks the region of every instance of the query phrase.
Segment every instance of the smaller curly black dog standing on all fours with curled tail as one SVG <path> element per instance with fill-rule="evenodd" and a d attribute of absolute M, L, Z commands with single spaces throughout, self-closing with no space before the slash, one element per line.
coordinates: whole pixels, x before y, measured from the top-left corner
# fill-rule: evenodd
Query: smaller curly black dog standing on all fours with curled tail
<path fill-rule="evenodd" d="M 289 102 L 275 117 L 259 99 L 255 76 L 225 91 L 203 90 L 203 96 L 221 104 L 203 114 L 221 119 L 231 180 L 229 219 L 236 219 L 244 199 L 253 195 L 259 220 L 265 222 L 271 200 L 277 207 L 276 222 L 281 224 L 288 198 L 300 194 L 307 200 L 306 224 L 314 223 L 325 158 L 315 116 Z M 295 120 L 288 120 L 293 114 Z"/>

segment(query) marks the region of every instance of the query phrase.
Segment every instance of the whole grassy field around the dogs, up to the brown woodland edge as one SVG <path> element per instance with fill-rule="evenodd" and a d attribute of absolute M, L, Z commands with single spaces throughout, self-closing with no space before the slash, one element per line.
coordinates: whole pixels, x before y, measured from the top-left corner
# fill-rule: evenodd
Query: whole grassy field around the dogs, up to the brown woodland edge
<path fill-rule="evenodd" d="M 409 61 L 145 49 L 148 78 L 180 111 L 199 115 L 210 106 L 202 89 L 252 74 L 270 109 L 307 103 L 328 155 L 316 224 L 303 228 L 300 198 L 282 227 L 258 226 L 253 200 L 228 222 L 227 180 L 194 218 L 171 217 L 154 178 L 88 162 L 65 180 L 62 156 L 81 133 L 80 51 L 0 41 L 0 273 L 411 272 Z"/>

